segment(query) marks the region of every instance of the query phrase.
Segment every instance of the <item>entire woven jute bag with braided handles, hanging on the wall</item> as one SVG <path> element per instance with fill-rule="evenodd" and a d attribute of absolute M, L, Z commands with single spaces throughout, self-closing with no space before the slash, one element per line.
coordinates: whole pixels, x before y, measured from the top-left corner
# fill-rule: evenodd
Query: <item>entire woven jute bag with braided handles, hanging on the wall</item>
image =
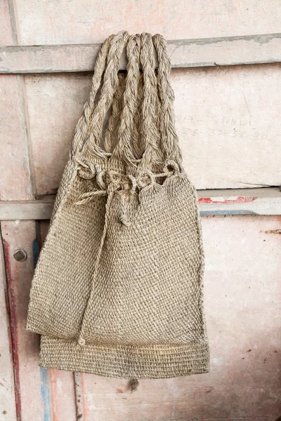
<path fill-rule="evenodd" d="M 32 281 L 27 329 L 42 335 L 43 367 L 125 378 L 209 370 L 198 200 L 173 99 L 162 36 L 109 36 Z"/>

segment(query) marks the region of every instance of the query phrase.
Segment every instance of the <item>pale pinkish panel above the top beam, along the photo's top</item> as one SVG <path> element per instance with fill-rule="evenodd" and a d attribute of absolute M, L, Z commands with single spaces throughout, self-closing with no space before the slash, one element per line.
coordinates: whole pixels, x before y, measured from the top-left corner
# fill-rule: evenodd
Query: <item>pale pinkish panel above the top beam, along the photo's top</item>
<path fill-rule="evenodd" d="M 280 32 L 278 0 L 15 0 L 20 44 L 91 44 L 121 29 L 167 39 Z"/>

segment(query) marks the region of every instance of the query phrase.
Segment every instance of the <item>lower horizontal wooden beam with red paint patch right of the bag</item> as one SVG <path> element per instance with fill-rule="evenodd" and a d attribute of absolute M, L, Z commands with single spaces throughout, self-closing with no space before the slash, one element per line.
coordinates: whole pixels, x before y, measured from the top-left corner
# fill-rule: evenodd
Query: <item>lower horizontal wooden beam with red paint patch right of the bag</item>
<path fill-rule="evenodd" d="M 280 187 L 198 190 L 201 215 L 281 215 Z M 0 220 L 48 220 L 55 196 L 35 201 L 0 201 Z"/>

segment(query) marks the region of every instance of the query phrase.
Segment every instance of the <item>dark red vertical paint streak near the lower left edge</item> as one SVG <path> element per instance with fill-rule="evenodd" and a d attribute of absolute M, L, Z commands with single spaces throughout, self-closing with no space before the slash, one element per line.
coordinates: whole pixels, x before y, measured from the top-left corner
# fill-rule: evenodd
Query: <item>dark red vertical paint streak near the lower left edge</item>
<path fill-rule="evenodd" d="M 10 260 L 10 245 L 3 239 L 4 256 L 6 263 L 7 287 L 8 287 L 8 314 L 11 319 L 11 345 L 13 350 L 13 367 L 15 378 L 15 408 L 17 411 L 17 421 L 22 420 L 22 403 L 20 398 L 20 361 L 18 357 L 18 324 L 15 311 L 15 294 L 13 290 L 13 276 Z"/>

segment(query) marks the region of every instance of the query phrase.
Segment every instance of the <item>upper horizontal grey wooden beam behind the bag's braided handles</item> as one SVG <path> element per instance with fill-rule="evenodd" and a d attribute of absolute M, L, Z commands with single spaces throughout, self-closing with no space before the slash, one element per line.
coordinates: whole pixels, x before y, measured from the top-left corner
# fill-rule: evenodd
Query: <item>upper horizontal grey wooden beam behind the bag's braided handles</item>
<path fill-rule="evenodd" d="M 0 48 L 0 73 L 92 72 L 100 44 Z M 281 34 L 168 41 L 172 67 L 281 62 Z M 125 51 L 120 69 L 126 68 Z M 156 60 L 156 67 L 158 63 Z"/>

